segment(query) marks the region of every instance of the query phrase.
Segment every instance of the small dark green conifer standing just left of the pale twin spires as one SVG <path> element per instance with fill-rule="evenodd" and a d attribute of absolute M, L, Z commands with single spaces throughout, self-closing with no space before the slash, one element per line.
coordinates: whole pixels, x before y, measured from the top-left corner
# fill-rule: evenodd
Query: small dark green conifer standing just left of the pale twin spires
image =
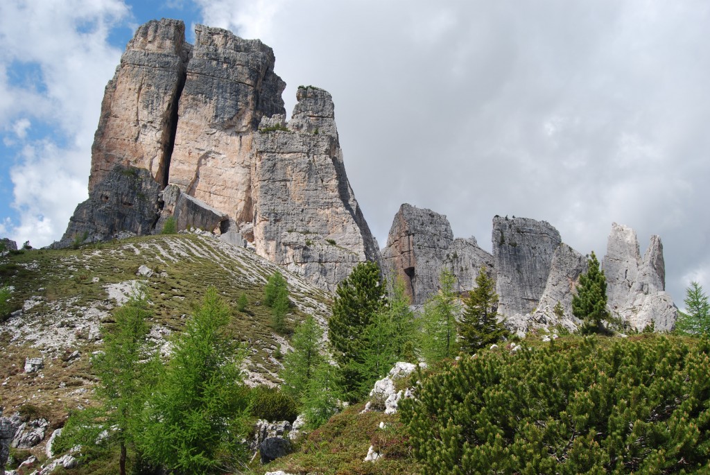
<path fill-rule="evenodd" d="M 599 269 L 594 251 L 587 261 L 588 270 L 579 276 L 577 293 L 572 297 L 572 315 L 582 320 L 583 334 L 606 333 L 604 322 L 609 318 L 606 310 L 606 277 Z"/>

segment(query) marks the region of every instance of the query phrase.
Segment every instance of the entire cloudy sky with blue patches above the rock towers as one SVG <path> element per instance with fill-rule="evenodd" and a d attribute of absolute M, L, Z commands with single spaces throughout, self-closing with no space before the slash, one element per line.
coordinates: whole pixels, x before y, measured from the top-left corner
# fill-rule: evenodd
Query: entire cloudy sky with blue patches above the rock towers
<path fill-rule="evenodd" d="M 136 26 L 260 38 L 334 99 L 381 247 L 400 204 L 491 251 L 493 216 L 606 253 L 612 222 L 664 244 L 667 290 L 710 293 L 706 0 L 3 0 L 0 236 L 46 246 L 87 198 L 104 87 Z"/>

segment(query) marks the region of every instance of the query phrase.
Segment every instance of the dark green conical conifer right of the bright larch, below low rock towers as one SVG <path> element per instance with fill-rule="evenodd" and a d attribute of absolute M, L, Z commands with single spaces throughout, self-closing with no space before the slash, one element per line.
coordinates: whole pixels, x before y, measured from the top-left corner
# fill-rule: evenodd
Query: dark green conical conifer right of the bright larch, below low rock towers
<path fill-rule="evenodd" d="M 478 349 L 500 342 L 509 333 L 503 322 L 498 322 L 496 283 L 481 267 L 476 277 L 476 288 L 464 300 L 464 314 L 459 322 L 461 349 L 474 354 Z"/>

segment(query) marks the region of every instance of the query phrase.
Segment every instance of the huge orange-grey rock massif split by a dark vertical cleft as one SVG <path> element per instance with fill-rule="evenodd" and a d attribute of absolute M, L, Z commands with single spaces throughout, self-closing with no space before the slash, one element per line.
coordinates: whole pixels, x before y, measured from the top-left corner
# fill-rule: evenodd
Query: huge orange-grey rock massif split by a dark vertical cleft
<path fill-rule="evenodd" d="M 159 232 L 174 215 L 178 230 L 224 233 L 329 290 L 378 259 L 330 94 L 300 87 L 287 123 L 274 63 L 261 41 L 221 28 L 196 26 L 191 45 L 182 21 L 140 26 L 106 87 L 89 200 L 57 246 Z"/>

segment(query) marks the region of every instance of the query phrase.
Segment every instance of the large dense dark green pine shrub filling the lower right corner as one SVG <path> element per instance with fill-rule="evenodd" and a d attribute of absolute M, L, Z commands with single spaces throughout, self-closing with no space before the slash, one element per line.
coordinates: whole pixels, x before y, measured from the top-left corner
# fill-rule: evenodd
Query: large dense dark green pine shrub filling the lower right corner
<path fill-rule="evenodd" d="M 699 473 L 710 342 L 589 337 L 481 351 L 401 403 L 427 474 Z M 606 347 L 603 347 L 606 346 Z"/>

